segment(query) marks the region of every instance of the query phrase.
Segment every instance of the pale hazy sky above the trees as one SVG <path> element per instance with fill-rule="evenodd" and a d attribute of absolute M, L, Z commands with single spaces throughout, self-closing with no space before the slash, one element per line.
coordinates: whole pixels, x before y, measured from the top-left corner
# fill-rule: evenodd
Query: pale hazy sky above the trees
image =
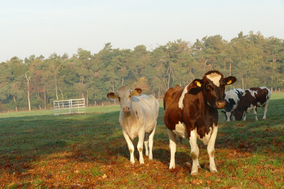
<path fill-rule="evenodd" d="M 98 53 L 145 45 L 150 50 L 168 41 L 260 31 L 284 39 L 284 1 L 85 1 L 0 0 L 0 62 L 51 53 Z"/>

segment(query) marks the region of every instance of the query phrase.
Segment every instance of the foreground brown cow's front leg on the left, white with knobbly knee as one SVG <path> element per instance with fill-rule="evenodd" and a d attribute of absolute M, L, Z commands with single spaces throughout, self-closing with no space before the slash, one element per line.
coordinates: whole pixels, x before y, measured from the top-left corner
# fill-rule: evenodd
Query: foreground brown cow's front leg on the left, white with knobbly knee
<path fill-rule="evenodd" d="M 190 143 L 190 147 L 191 147 L 190 154 L 191 154 L 191 157 L 192 157 L 191 175 L 197 175 L 197 173 L 198 173 L 198 164 L 199 164 L 199 161 L 198 161 L 199 148 L 197 146 L 197 136 L 196 136 L 196 131 L 195 130 L 190 132 L 189 143 Z"/>

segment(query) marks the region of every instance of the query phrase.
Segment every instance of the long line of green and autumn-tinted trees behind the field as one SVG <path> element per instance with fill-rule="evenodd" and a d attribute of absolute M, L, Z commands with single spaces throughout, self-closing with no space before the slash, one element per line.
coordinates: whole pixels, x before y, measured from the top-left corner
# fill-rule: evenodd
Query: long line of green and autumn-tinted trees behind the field
<path fill-rule="evenodd" d="M 231 41 L 220 35 L 204 37 L 194 44 L 176 40 L 147 51 L 112 48 L 106 43 L 99 53 L 78 48 L 69 57 L 51 54 L 13 57 L 0 64 L 0 110 L 19 111 L 53 106 L 53 100 L 85 98 L 86 105 L 108 101 L 106 94 L 128 85 L 162 99 L 176 84 L 184 86 L 211 69 L 238 81 L 227 87 L 266 86 L 284 88 L 284 42 L 265 38 L 260 32 L 243 32 Z M 108 101 L 109 102 L 109 101 Z"/>

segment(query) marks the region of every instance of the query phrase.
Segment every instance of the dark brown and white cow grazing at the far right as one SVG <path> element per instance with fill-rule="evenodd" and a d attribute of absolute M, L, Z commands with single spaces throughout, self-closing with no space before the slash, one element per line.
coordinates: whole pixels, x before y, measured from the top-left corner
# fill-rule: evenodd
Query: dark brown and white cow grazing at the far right
<path fill-rule="evenodd" d="M 246 89 L 243 92 L 236 109 L 234 110 L 235 120 L 241 120 L 243 117 L 243 112 L 245 112 L 245 116 L 243 118 L 245 121 L 247 113 L 251 113 L 251 111 L 254 110 L 255 120 L 258 121 L 256 117 L 257 107 L 262 107 L 264 112 L 262 119 L 266 119 L 270 95 L 271 91 L 267 87 L 253 87 Z"/>

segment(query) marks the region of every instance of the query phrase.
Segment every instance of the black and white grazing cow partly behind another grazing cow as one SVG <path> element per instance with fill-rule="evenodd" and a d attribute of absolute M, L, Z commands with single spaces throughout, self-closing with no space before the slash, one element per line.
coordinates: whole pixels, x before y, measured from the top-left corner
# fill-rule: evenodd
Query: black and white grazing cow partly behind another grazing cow
<path fill-rule="evenodd" d="M 234 110 L 236 109 L 241 96 L 243 95 L 243 89 L 231 89 L 225 92 L 225 102 L 227 107 L 225 107 L 225 111 L 221 111 L 225 114 L 225 118 L 227 121 L 230 121 L 233 116 L 233 121 L 235 121 L 235 116 L 233 115 Z"/>

